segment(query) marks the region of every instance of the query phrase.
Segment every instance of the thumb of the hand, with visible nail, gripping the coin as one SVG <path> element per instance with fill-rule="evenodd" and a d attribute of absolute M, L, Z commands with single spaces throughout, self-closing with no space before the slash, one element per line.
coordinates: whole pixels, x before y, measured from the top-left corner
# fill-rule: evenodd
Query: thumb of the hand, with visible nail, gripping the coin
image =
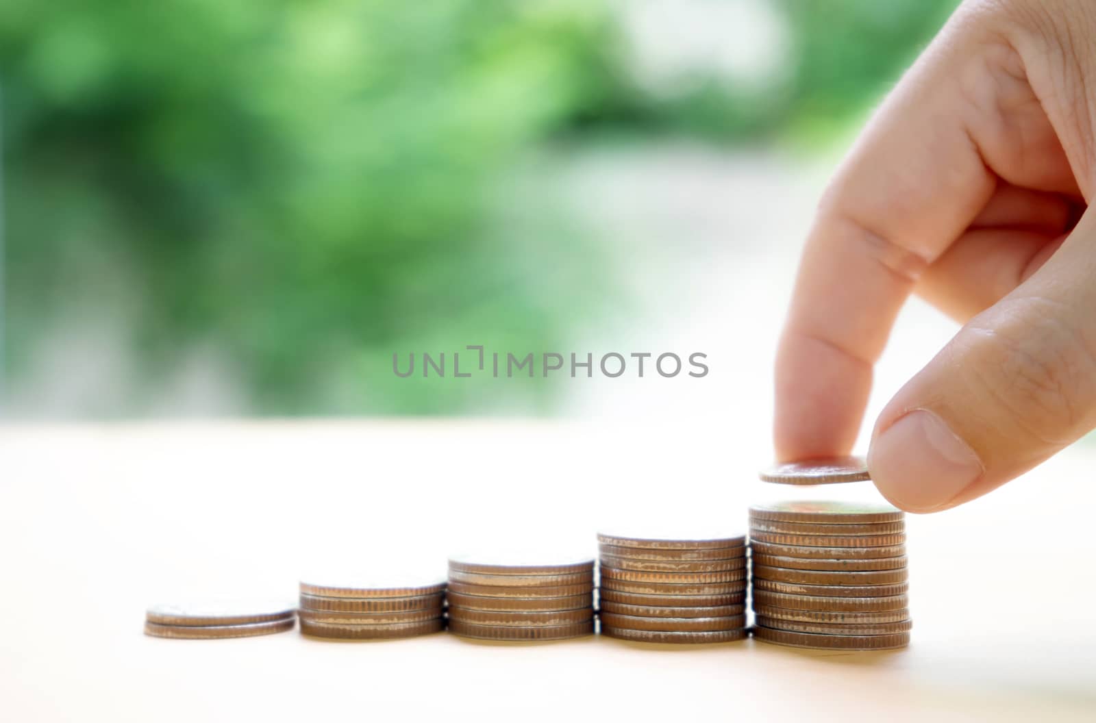
<path fill-rule="evenodd" d="M 1096 217 L 880 414 L 868 468 L 909 512 L 981 496 L 1096 427 Z M 1019 279 L 1017 279 L 1019 280 Z"/>

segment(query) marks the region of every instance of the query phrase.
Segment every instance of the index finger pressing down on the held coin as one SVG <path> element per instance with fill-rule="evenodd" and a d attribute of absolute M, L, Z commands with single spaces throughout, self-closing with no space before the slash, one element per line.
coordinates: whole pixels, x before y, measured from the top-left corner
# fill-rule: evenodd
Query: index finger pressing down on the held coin
<path fill-rule="evenodd" d="M 954 23 L 952 23 L 954 24 Z M 781 460 L 847 454 L 894 318 L 993 194 L 946 28 L 869 124 L 820 204 L 776 364 Z"/>

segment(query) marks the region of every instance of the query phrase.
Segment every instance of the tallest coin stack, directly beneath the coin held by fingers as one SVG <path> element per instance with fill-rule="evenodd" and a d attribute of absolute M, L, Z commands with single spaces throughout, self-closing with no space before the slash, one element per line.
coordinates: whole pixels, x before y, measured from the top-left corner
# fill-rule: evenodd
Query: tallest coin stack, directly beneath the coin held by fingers
<path fill-rule="evenodd" d="M 903 513 L 886 505 L 750 507 L 757 640 L 887 650 L 910 643 Z"/>

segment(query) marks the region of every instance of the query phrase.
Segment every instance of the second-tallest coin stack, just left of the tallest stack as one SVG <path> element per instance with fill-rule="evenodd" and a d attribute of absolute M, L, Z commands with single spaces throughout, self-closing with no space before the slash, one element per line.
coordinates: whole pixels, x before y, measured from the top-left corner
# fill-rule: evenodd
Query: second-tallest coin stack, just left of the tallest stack
<path fill-rule="evenodd" d="M 745 631 L 745 536 L 597 536 L 603 635 L 648 643 L 723 643 Z"/>

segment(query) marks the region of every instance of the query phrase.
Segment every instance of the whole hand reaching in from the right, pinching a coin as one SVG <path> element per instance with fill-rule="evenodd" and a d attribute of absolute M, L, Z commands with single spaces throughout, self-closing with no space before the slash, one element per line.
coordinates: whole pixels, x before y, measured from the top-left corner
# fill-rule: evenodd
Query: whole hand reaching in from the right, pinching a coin
<path fill-rule="evenodd" d="M 847 454 L 916 292 L 963 323 L 890 401 L 868 467 L 910 512 L 1096 427 L 1096 3 L 962 4 L 838 169 L 776 365 L 781 460 Z"/>

